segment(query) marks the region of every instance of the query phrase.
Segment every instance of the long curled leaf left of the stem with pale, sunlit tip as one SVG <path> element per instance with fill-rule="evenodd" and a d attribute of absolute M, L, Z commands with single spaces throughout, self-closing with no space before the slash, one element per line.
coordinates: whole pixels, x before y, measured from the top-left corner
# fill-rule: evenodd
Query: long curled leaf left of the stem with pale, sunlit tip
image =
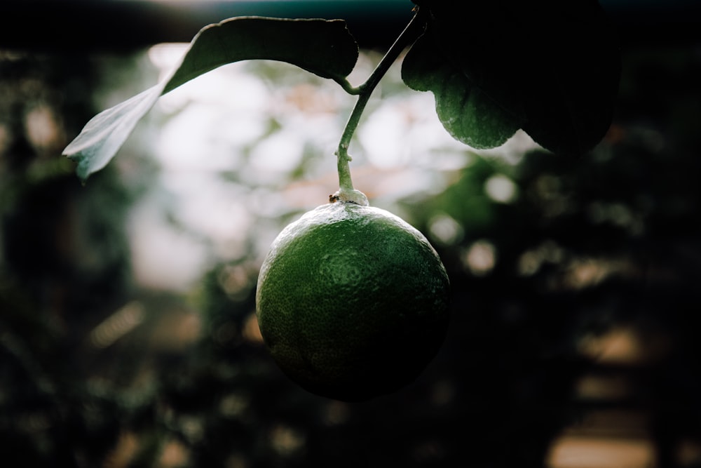
<path fill-rule="evenodd" d="M 158 98 L 212 69 L 240 60 L 278 60 L 324 78 L 344 79 L 358 60 L 358 44 L 342 20 L 231 18 L 204 27 L 169 79 L 91 119 L 64 149 L 86 180 L 116 154 Z"/>

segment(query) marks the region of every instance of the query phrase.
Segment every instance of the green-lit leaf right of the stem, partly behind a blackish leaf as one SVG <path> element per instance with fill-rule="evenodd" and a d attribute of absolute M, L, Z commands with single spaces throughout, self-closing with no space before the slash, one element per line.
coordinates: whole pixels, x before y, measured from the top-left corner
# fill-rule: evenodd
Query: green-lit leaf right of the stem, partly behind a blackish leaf
<path fill-rule="evenodd" d="M 436 113 L 444 128 L 473 148 L 503 145 L 519 129 L 515 116 L 435 53 L 430 32 L 421 36 L 404 58 L 402 79 L 416 91 L 433 91 Z"/>

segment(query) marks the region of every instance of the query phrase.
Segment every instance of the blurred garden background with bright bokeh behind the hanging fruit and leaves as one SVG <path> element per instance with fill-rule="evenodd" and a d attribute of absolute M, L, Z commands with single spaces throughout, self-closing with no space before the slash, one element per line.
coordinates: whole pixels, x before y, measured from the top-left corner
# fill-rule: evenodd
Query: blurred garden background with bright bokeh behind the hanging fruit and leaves
<path fill-rule="evenodd" d="M 182 44 L 0 44 L 0 465 L 700 467 L 698 18 L 612 11 L 620 98 L 577 159 L 524 134 L 475 152 L 398 67 L 381 83 L 354 182 L 440 251 L 452 321 L 413 385 L 367 403 L 292 384 L 254 319 L 269 243 L 336 189 L 353 98 L 224 67 L 82 187 L 62 148 Z M 386 47 L 362 44 L 355 84 Z"/>

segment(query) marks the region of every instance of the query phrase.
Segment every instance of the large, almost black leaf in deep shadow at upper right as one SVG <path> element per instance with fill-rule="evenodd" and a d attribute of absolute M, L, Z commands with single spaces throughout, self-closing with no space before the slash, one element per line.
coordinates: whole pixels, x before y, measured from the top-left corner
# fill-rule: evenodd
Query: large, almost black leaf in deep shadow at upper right
<path fill-rule="evenodd" d="M 620 52 L 594 0 L 423 0 L 433 53 L 508 114 L 533 140 L 585 152 L 608 130 Z"/>

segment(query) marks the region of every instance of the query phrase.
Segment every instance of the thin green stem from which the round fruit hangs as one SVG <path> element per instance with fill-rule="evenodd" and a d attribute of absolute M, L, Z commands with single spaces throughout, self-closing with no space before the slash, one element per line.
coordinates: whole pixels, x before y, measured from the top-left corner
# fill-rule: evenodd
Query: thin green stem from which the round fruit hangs
<path fill-rule="evenodd" d="M 375 87 L 387 73 L 393 62 L 397 60 L 400 53 L 416 41 L 418 36 L 423 33 L 423 25 L 425 25 L 426 22 L 421 18 L 423 16 L 421 15 L 421 8 L 417 7 L 414 11 L 414 16 L 411 18 L 411 21 L 409 21 L 407 27 L 405 27 L 402 34 L 397 37 L 394 44 L 392 44 L 382 60 L 380 60 L 379 64 L 377 64 L 372 71 L 372 74 L 367 78 L 367 81 L 358 86 L 358 88 L 351 89 L 351 91 L 353 91 L 352 94 L 358 95 L 358 100 L 355 102 L 355 107 L 353 107 L 351 116 L 348 117 L 346 128 L 343 130 L 341 140 L 339 141 L 339 148 L 336 150 L 336 156 L 338 158 L 339 192 L 331 196 L 331 199 L 334 201 L 352 201 L 354 203 L 367 205 L 367 198 L 365 195 L 353 189 L 351 167 L 348 164 L 352 158 L 351 155 L 348 154 L 348 147 L 351 145 L 353 133 L 355 133 L 355 129 L 358 128 L 358 123 L 360 123 L 360 116 L 362 116 L 362 112 L 365 110 L 365 106 Z M 365 198 L 365 203 L 362 203 L 363 198 Z"/>

